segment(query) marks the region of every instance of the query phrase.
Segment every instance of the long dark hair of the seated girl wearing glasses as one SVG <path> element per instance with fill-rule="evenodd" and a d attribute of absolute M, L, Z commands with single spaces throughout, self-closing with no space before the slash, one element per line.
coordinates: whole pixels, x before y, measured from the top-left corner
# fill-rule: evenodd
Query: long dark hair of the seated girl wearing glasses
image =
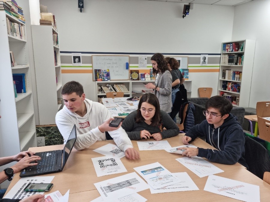
<path fill-rule="evenodd" d="M 141 121 L 144 121 L 144 117 L 141 115 L 141 104 L 143 102 L 147 102 L 150 105 L 153 105 L 156 107 L 155 114 L 151 120 L 151 125 L 157 126 L 161 120 L 160 116 L 160 106 L 159 106 L 159 100 L 157 99 L 155 94 L 152 93 L 146 93 L 141 96 L 141 99 L 139 101 L 138 109 L 137 109 L 137 116 L 136 116 L 136 123 L 139 123 Z"/>

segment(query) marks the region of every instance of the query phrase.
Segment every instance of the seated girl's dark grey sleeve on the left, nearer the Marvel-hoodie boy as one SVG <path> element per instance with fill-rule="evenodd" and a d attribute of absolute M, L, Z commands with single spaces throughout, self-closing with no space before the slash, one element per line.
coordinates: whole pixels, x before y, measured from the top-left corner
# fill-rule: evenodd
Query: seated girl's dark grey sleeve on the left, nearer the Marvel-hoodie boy
<path fill-rule="evenodd" d="M 122 128 L 126 131 L 126 133 L 129 136 L 129 139 L 131 140 L 139 140 L 141 139 L 141 131 L 132 131 L 134 129 L 134 124 L 136 120 L 136 114 L 137 112 L 134 111 L 126 116 L 126 118 L 123 120 Z"/>

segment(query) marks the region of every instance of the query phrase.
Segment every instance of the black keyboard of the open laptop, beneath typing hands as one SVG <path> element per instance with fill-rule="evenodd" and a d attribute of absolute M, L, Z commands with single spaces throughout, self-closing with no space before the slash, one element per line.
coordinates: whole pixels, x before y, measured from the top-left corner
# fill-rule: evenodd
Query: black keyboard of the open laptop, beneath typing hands
<path fill-rule="evenodd" d="M 44 173 L 54 171 L 55 159 L 56 159 L 56 151 L 49 152 L 40 152 L 36 154 L 41 157 L 41 160 L 38 161 L 38 165 L 36 165 L 36 173 Z M 34 166 L 30 166 L 27 170 L 31 170 Z"/>

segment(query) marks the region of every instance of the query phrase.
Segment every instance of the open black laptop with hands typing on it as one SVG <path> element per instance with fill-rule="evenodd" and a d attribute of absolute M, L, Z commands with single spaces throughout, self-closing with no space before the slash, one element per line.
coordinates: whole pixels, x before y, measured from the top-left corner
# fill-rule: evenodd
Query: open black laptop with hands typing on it
<path fill-rule="evenodd" d="M 63 150 L 36 153 L 36 156 L 41 157 L 41 160 L 38 161 L 38 165 L 24 168 L 20 173 L 20 177 L 30 177 L 61 172 L 68 160 L 68 156 L 71 153 L 76 139 L 76 126 L 74 125 Z"/>

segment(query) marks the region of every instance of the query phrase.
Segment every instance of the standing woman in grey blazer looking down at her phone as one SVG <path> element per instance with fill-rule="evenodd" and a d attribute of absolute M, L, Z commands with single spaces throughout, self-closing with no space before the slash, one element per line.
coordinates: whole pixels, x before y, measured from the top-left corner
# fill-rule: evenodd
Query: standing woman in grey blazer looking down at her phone
<path fill-rule="evenodd" d="M 160 53 L 155 53 L 151 58 L 153 66 L 153 74 L 156 75 L 155 85 L 148 83 L 145 88 L 153 89 L 154 94 L 159 100 L 160 109 L 170 113 L 171 112 L 171 82 L 172 77 L 168 69 L 165 58 Z"/>

